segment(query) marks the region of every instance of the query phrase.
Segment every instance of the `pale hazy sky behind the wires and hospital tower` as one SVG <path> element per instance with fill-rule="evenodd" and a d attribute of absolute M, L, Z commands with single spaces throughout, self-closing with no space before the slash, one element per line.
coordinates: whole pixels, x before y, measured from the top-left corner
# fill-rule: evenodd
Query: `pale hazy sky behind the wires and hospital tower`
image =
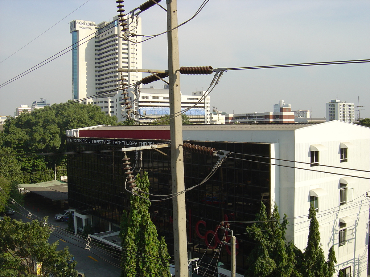
<path fill-rule="evenodd" d="M 46 31 L 87 0 L 0 0 L 0 61 Z M 144 3 L 126 0 L 125 10 Z M 178 0 L 178 22 L 203 0 Z M 161 4 L 165 6 L 165 1 Z M 4 83 L 71 45 L 69 23 L 100 23 L 117 15 L 115 0 L 90 0 L 77 11 L 0 63 Z M 142 33 L 166 30 L 166 13 L 141 14 Z M 167 37 L 144 42 L 142 66 L 167 69 Z M 370 1 L 211 0 L 179 28 L 180 66 L 242 67 L 370 58 Z M 213 75 L 181 75 L 181 91 L 206 89 Z M 154 82 L 161 88 L 160 81 Z M 325 103 L 340 99 L 364 106 L 370 117 L 370 64 L 253 69 L 225 72 L 211 93 L 211 106 L 227 113 L 272 112 L 279 99 L 292 109 L 325 116 Z M 72 96 L 71 52 L 0 88 L 0 115 L 40 98 L 61 103 Z M 357 117 L 357 112 L 356 112 Z"/>

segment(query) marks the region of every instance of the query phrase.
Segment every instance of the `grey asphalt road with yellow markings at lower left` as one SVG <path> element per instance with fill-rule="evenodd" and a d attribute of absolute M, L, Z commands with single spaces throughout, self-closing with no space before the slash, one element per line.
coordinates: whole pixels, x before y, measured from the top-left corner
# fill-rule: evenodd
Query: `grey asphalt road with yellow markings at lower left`
<path fill-rule="evenodd" d="M 86 277 L 119 277 L 121 275 L 118 257 L 97 247 L 91 247 L 90 251 L 86 250 L 86 240 L 68 233 L 65 230 L 68 226 L 67 222 L 59 222 L 54 219 L 56 213 L 66 209 L 61 207 L 59 203 L 47 201 L 45 198 L 29 198 L 26 200 L 24 207 L 27 211 L 20 210 L 20 213 L 16 212 L 10 218 L 29 221 L 30 219 L 36 219 L 36 216 L 39 218 L 48 216 L 48 223 L 55 226 L 49 242 L 52 243 L 58 240 L 58 250 L 68 246 L 69 252 L 73 254 L 75 261 L 77 261 L 75 267 L 77 271 L 84 272 Z M 32 216 L 26 216 L 28 212 L 31 212 Z"/>

